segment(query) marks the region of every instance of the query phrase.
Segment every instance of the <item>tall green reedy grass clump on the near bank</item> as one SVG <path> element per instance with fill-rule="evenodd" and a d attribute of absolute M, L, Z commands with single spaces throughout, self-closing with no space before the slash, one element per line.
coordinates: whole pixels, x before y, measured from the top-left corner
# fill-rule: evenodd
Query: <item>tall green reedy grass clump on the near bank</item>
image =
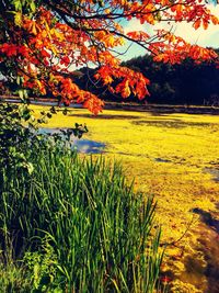
<path fill-rule="evenodd" d="M 32 173 L 1 168 L 1 267 L 23 278 L 3 283 L 0 274 L 2 292 L 154 292 L 162 253 L 153 199 L 103 157 L 51 144 L 27 154 Z"/>

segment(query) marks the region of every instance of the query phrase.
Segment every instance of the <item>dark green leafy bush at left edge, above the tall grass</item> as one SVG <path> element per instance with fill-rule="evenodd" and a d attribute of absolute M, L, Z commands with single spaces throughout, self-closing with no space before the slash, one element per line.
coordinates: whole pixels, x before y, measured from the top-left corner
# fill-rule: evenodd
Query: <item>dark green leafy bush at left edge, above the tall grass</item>
<path fill-rule="evenodd" d="M 67 111 L 64 109 L 64 112 Z M 30 161 L 30 151 L 32 148 L 44 148 L 47 145 L 45 135 L 37 134 L 37 127 L 47 123 L 47 120 L 56 114 L 53 106 L 48 111 L 42 111 L 41 117 L 35 120 L 27 104 L 4 104 L 0 103 L 0 169 L 7 168 L 9 171 L 16 168 L 24 168 L 28 172 L 33 171 L 33 165 Z M 65 113 L 64 113 L 65 114 Z M 74 124 L 74 127 L 62 131 L 60 135 L 54 134 L 53 138 L 65 145 L 65 139 L 70 140 L 74 135 L 81 138 L 89 129 L 87 125 Z"/>

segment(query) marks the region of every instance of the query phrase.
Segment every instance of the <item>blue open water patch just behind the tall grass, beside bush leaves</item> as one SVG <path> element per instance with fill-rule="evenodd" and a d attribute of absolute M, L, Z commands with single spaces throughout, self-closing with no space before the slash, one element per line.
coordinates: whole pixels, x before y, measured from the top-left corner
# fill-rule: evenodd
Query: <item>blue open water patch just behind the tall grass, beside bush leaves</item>
<path fill-rule="evenodd" d="M 64 132 L 68 128 L 39 128 L 38 133 L 50 136 L 57 134 L 65 139 Z M 77 138 L 76 136 L 73 136 L 73 134 L 70 136 L 70 145 L 72 149 L 81 154 L 101 154 L 104 151 L 104 148 L 106 146 L 104 143 L 101 142 Z"/>

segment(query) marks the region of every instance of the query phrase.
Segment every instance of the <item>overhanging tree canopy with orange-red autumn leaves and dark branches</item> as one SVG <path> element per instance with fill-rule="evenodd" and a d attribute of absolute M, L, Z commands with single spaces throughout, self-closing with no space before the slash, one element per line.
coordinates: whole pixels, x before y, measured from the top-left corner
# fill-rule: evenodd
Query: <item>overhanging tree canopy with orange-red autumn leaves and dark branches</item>
<path fill-rule="evenodd" d="M 134 19 L 149 29 L 126 32 L 125 22 Z M 217 58 L 171 31 L 152 31 L 159 22 L 191 22 L 195 30 L 219 25 L 203 0 L 0 0 L 1 72 L 16 80 L 21 95 L 32 89 L 66 104 L 83 103 L 96 114 L 103 101 L 74 83 L 77 68 L 95 66 L 96 82 L 123 98 L 149 94 L 147 77 L 120 66 L 117 48 L 126 42 L 137 43 L 157 61 Z"/>

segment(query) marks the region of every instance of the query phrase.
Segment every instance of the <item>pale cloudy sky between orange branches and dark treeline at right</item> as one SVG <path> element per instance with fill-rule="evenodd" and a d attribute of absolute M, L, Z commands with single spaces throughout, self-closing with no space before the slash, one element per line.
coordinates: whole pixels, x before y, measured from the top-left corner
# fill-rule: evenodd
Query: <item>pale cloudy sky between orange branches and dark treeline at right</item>
<path fill-rule="evenodd" d="M 219 5 L 209 5 L 212 14 L 219 16 Z M 154 25 L 152 29 L 164 29 L 172 30 L 176 36 L 183 37 L 186 42 L 192 44 L 197 44 L 204 47 L 215 47 L 219 48 L 219 25 L 210 24 L 207 30 L 203 27 L 195 30 L 189 23 L 177 23 L 168 25 L 166 23 L 159 23 Z M 146 31 L 150 32 L 151 27 L 148 25 L 142 25 L 138 20 L 131 20 L 126 23 L 125 32 L 131 31 Z M 119 52 L 124 52 L 127 48 L 128 44 L 119 48 Z M 128 60 L 134 57 L 138 57 L 140 55 L 145 55 L 147 52 L 139 47 L 138 45 L 131 45 L 129 50 L 125 54 L 125 56 L 120 56 L 120 59 Z"/>

